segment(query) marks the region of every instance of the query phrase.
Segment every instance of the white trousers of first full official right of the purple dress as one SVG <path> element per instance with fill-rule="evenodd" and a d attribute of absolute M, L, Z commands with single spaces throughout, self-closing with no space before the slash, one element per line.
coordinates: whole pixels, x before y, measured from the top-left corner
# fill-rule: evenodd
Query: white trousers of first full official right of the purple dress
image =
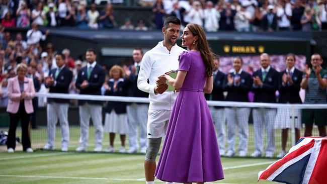
<path fill-rule="evenodd" d="M 225 108 L 227 122 L 227 151 L 235 153 L 236 127 L 238 128 L 238 152 L 248 153 L 250 108 Z"/>

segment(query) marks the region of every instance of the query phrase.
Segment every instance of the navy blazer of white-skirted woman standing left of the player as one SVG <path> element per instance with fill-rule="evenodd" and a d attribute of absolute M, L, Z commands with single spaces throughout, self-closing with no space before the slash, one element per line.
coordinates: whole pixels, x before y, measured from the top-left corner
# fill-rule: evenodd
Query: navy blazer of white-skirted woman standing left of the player
<path fill-rule="evenodd" d="M 117 90 L 114 91 L 114 79 L 108 81 L 109 90 L 106 90 L 105 95 L 108 96 L 127 96 L 127 90 L 125 86 L 124 79 L 120 78 L 117 83 Z M 126 102 L 108 102 L 106 112 L 111 113 L 112 110 L 115 110 L 116 114 L 126 113 Z"/>

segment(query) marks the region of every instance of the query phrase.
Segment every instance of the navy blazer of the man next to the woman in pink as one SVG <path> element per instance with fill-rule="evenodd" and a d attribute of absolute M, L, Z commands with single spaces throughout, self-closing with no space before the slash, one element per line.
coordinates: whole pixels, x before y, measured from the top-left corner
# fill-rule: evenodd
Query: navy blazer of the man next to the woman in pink
<path fill-rule="evenodd" d="M 58 68 L 52 69 L 49 72 L 50 77 L 55 77 L 56 71 Z M 49 93 L 59 93 L 59 94 L 68 94 L 69 84 L 72 80 L 72 72 L 64 66 L 62 70 L 59 72 L 56 81 L 56 85 L 47 85 L 45 87 L 50 88 Z M 48 99 L 48 102 L 55 102 L 55 103 L 69 103 L 69 99 Z"/>

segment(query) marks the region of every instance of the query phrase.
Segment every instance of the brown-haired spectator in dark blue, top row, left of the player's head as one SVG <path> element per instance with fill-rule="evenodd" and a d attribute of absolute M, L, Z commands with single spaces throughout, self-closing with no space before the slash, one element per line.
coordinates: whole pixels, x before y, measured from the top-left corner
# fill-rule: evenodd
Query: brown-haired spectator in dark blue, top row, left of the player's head
<path fill-rule="evenodd" d="M 115 18 L 113 16 L 113 7 L 112 5 L 106 5 L 104 10 L 100 12 L 99 17 L 99 27 L 100 28 L 114 28 L 115 27 Z"/>

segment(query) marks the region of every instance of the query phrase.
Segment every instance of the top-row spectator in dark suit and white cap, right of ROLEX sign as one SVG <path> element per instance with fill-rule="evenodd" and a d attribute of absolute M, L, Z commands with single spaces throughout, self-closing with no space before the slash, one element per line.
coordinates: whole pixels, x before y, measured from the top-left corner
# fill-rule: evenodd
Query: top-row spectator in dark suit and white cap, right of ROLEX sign
<path fill-rule="evenodd" d="M 269 12 L 264 16 L 261 22 L 263 31 L 273 32 L 277 30 L 277 15 L 274 13 L 274 6 L 268 6 Z"/>

